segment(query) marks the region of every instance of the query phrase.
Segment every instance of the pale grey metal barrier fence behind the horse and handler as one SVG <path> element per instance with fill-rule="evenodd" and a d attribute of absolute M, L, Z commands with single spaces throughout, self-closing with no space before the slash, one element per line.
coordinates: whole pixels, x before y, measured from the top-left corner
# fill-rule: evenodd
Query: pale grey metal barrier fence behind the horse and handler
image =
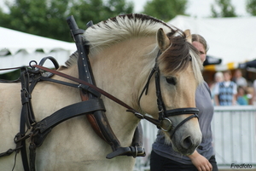
<path fill-rule="evenodd" d="M 134 171 L 149 170 L 151 145 L 157 128 L 142 121 L 146 157 L 137 157 Z M 256 107 L 253 105 L 215 106 L 212 119 L 212 145 L 218 168 L 247 164 L 256 169 Z"/>

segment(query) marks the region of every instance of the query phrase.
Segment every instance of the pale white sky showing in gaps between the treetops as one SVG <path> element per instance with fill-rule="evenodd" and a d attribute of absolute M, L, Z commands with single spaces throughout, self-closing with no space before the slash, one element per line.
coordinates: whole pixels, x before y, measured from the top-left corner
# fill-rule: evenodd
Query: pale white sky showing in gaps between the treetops
<path fill-rule="evenodd" d="M 149 0 L 127 1 L 132 1 L 135 5 L 135 12 L 139 13 L 143 11 L 143 6 Z M 187 14 L 198 18 L 209 17 L 211 15 L 211 4 L 214 3 L 214 0 L 188 0 L 188 2 L 188 9 L 186 10 Z M 231 0 L 231 4 L 235 6 L 236 14 L 239 16 L 248 16 L 246 12 L 246 0 Z"/>

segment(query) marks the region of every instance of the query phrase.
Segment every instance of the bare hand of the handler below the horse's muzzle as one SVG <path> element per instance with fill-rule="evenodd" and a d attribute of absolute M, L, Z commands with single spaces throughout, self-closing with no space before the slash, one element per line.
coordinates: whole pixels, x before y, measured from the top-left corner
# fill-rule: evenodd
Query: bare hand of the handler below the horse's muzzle
<path fill-rule="evenodd" d="M 212 171 L 212 164 L 197 151 L 188 156 L 199 171 Z"/>

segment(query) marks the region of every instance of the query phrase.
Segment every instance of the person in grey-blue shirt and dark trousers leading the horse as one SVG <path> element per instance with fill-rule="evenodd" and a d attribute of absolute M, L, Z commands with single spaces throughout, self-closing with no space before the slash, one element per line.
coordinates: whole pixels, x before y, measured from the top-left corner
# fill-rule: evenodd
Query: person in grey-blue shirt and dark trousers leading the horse
<path fill-rule="evenodd" d="M 192 44 L 198 49 L 201 60 L 206 60 L 207 42 L 201 35 L 192 35 Z M 172 145 L 165 144 L 165 135 L 159 130 L 152 145 L 150 156 L 151 171 L 218 171 L 212 147 L 211 122 L 213 105 L 211 91 L 206 82 L 201 83 L 195 92 L 195 104 L 199 109 L 199 125 L 202 133 L 201 144 L 189 156 L 174 151 Z"/>

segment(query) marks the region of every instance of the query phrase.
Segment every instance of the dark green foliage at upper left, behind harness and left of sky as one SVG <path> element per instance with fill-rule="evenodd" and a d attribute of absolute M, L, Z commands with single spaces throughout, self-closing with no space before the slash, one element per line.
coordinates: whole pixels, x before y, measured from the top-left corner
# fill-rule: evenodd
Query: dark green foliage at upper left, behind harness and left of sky
<path fill-rule="evenodd" d="M 72 41 L 67 16 L 73 15 L 80 28 L 118 14 L 129 14 L 133 3 L 125 0 L 15 0 L 7 3 L 9 14 L 0 9 L 0 26 L 43 37 Z"/>

